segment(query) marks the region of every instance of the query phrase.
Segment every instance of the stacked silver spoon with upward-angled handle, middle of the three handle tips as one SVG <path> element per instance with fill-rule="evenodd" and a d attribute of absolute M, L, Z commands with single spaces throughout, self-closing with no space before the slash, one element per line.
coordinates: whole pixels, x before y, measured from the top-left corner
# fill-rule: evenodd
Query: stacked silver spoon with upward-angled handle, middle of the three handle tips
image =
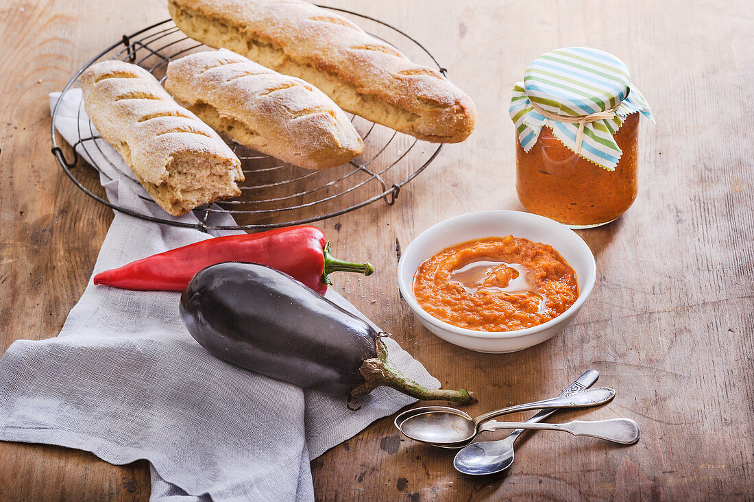
<path fill-rule="evenodd" d="M 470 443 L 484 423 L 502 414 L 540 408 L 584 408 L 602 405 L 615 397 L 615 390 L 605 387 L 587 389 L 571 396 L 544 399 L 524 405 L 508 406 L 490 411 L 477 418 L 456 408 L 424 406 L 404 411 L 395 417 L 395 427 L 410 439 L 444 448 L 462 448 Z M 532 425 L 532 424 L 524 424 Z M 536 424 L 535 424 L 536 425 Z M 516 428 L 516 427 L 513 427 Z M 529 427 L 520 427 L 526 429 Z M 536 427 L 530 427 L 532 429 Z"/>

